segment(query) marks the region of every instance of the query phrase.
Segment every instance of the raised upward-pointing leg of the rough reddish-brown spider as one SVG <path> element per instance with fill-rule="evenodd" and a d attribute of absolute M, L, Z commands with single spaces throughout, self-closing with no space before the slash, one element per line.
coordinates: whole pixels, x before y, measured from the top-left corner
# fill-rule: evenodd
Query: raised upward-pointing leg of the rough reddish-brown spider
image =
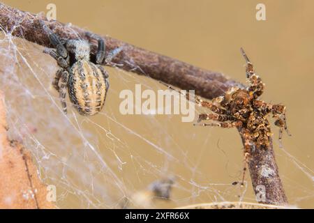
<path fill-rule="evenodd" d="M 262 82 L 262 79 L 255 74 L 254 66 L 251 63 L 251 61 L 248 59 L 248 56 L 246 55 L 246 52 L 244 52 L 244 49 L 241 48 L 241 53 L 244 56 L 244 59 L 246 60 L 246 78 L 248 79 L 248 82 L 250 83 L 250 86 L 248 87 L 248 91 L 254 96 L 254 98 L 260 97 L 264 91 L 264 83 Z"/>

